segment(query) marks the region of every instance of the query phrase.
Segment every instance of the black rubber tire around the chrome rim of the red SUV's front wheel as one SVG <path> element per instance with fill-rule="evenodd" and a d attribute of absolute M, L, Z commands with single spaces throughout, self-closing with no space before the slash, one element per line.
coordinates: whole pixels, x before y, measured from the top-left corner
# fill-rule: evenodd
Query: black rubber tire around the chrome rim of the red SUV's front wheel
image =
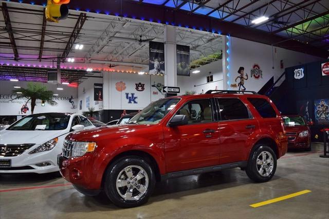
<path fill-rule="evenodd" d="M 143 195 L 141 195 L 140 197 L 138 197 L 134 200 L 125 199 L 124 197 L 122 197 L 119 194 L 119 192 L 121 192 L 121 194 L 123 195 L 125 189 L 126 189 L 125 192 L 127 193 L 127 191 L 129 190 L 129 188 L 127 186 L 120 187 L 120 189 L 118 189 L 119 190 L 118 191 L 117 185 L 116 185 L 117 178 L 119 177 L 120 172 L 129 166 L 137 166 L 139 168 L 142 168 L 147 173 L 147 174 L 145 174 L 144 179 L 140 179 L 140 180 L 144 180 L 144 182 L 141 182 L 140 180 L 137 181 L 137 182 L 140 182 L 140 184 L 144 183 L 146 185 L 145 181 L 148 177 L 147 189 L 144 190 Z M 136 168 L 136 170 L 138 170 L 138 168 Z M 134 170 L 134 167 L 133 167 L 132 171 L 134 174 L 136 174 L 136 172 L 138 172 L 136 170 Z M 122 175 L 127 177 L 127 174 L 125 172 L 124 173 L 121 172 L 120 176 L 122 176 Z M 105 180 L 104 180 L 105 194 L 111 200 L 111 202 L 113 202 L 113 204 L 115 204 L 116 206 L 121 207 L 121 208 L 132 208 L 132 207 L 137 207 L 137 206 L 147 203 L 149 197 L 153 193 L 153 190 L 155 187 L 155 182 L 156 182 L 155 173 L 154 173 L 152 166 L 145 159 L 143 159 L 141 157 L 137 157 L 137 156 L 127 156 L 127 157 L 123 157 L 123 158 L 117 160 L 111 166 L 109 166 L 109 168 L 105 172 L 104 177 L 105 177 Z M 134 178 L 135 178 L 135 175 L 134 175 Z M 124 180 L 129 181 L 129 178 L 127 177 Z M 134 179 L 132 179 L 132 180 L 134 180 Z M 130 182 L 130 186 L 133 184 Z M 142 194 L 142 192 L 139 192 L 139 189 L 137 189 L 137 187 L 133 188 L 131 190 L 131 191 L 134 191 L 132 194 L 134 194 L 134 193 Z"/>

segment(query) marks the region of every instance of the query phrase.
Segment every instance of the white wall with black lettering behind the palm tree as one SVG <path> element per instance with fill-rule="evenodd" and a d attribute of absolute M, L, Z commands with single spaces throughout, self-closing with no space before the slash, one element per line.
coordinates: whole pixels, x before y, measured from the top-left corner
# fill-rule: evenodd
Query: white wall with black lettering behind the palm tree
<path fill-rule="evenodd" d="M 16 95 L 12 92 L 14 89 L 13 86 L 21 86 L 23 88 L 27 87 L 28 82 L 11 82 L 11 81 L 0 81 L 0 115 L 3 116 L 15 116 L 15 115 L 30 115 L 31 114 L 31 105 L 28 102 L 27 106 L 29 110 L 26 113 L 21 112 L 22 106 L 26 103 L 25 99 L 16 99 Z M 39 82 L 33 82 L 39 83 Z M 56 106 L 50 106 L 45 103 L 45 106 L 41 106 L 41 100 L 36 101 L 36 106 L 34 108 L 34 114 L 36 113 L 50 113 L 50 112 L 59 112 L 59 113 L 75 113 L 77 108 L 74 108 L 68 99 L 72 96 L 77 106 L 77 87 L 69 87 L 68 85 L 60 85 L 63 87 L 63 90 L 57 90 L 57 85 L 50 83 L 40 83 L 45 85 L 48 90 L 52 90 L 54 94 L 59 96 L 54 96 L 53 99 L 58 103 Z"/>

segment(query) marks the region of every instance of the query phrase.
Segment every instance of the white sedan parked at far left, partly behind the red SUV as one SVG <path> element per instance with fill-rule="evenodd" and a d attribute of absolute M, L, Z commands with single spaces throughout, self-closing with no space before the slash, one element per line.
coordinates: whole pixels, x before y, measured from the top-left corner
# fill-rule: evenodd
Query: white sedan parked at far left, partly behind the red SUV
<path fill-rule="evenodd" d="M 57 155 L 62 153 L 65 137 L 94 127 L 79 114 L 26 116 L 0 131 L 0 174 L 57 172 Z"/>

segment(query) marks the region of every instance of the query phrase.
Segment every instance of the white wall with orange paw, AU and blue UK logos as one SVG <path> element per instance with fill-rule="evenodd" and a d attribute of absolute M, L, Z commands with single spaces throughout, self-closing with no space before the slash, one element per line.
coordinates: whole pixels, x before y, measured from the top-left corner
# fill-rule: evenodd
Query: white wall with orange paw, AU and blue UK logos
<path fill-rule="evenodd" d="M 103 83 L 103 101 L 99 101 L 98 104 L 94 101 L 94 83 Z M 120 89 L 117 87 L 119 84 L 117 83 L 124 85 L 122 91 L 119 91 Z M 139 83 L 144 86 L 144 90 L 136 89 L 136 84 Z M 142 109 L 152 101 L 165 97 L 156 88 L 156 85 L 158 85 L 162 91 L 163 83 L 163 76 L 103 72 L 103 78 L 88 78 L 79 85 L 78 99 L 79 101 L 82 100 L 82 109 L 79 110 L 79 113 L 87 110 L 87 97 L 89 97 L 89 107 L 95 107 L 95 111 L 101 109 Z M 132 94 L 134 94 L 134 97 L 137 98 L 129 103 L 129 99 L 126 99 L 126 93 L 128 97 L 132 97 Z M 79 108 L 79 103 L 77 105 Z"/>

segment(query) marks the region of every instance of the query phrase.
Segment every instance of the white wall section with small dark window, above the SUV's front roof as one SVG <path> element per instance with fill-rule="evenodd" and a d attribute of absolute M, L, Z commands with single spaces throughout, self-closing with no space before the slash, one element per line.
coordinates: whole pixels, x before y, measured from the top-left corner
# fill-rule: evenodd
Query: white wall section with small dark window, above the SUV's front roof
<path fill-rule="evenodd" d="M 186 91 L 194 90 L 197 94 L 210 89 L 223 89 L 223 63 L 222 60 L 203 65 L 193 70 L 200 70 L 199 73 L 191 76 L 177 76 L 177 85 L 180 87 L 180 95 Z M 193 71 L 192 70 L 192 71 Z M 209 74 L 211 72 L 211 74 Z M 207 76 L 213 76 L 213 82 L 207 83 Z"/>

